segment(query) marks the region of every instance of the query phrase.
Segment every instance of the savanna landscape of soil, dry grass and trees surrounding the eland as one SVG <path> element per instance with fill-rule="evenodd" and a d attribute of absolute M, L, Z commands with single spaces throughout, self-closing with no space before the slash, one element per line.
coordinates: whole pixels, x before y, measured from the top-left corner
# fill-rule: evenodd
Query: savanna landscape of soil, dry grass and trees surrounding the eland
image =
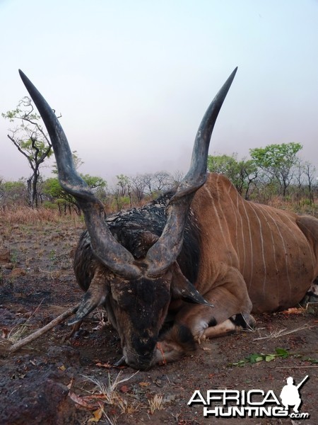
<path fill-rule="evenodd" d="M 285 380 L 310 380 L 302 412 L 317 424 L 317 306 L 256 316 L 257 328 L 201 343 L 195 356 L 135 371 L 114 364 L 119 337 L 105 311 L 94 310 L 71 338 L 67 320 L 22 347 L 16 343 L 72 309 L 82 297 L 72 256 L 84 222 L 76 200 L 65 193 L 52 162 L 52 145 L 30 98 L 8 120 L 8 143 L 23 155 L 30 174 L 0 177 L 0 423 L 1 424 L 204 424 L 203 406 L 189 406 L 194 390 L 251 390 L 279 394 Z M 4 147 L 3 147 L 4 149 Z M 83 161 L 73 152 L 77 169 Z M 52 176 L 41 171 L 52 167 Z M 47 168 L 46 168 L 47 170 Z M 318 217 L 317 171 L 290 142 L 208 157 L 208 170 L 225 174 L 240 195 Z M 175 186 L 182 173 L 136 176 L 81 175 L 105 211 L 134 208 Z M 14 348 L 13 348 L 14 347 Z M 218 419 L 209 423 L 295 424 L 279 418 Z"/>

